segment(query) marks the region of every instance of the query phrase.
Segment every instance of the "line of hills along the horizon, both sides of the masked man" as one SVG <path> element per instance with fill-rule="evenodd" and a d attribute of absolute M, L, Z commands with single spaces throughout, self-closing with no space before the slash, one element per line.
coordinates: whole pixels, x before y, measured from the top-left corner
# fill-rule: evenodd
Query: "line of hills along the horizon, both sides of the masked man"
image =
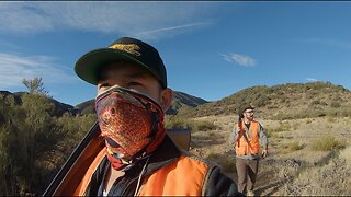
<path fill-rule="evenodd" d="M 0 96 L 13 96 L 21 104 L 25 92 L 0 91 Z M 65 112 L 94 114 L 94 100 L 77 106 L 52 100 L 57 116 Z M 320 116 L 351 116 L 351 92 L 342 85 L 330 82 L 286 83 L 274 86 L 257 85 L 238 91 L 219 101 L 207 102 L 201 97 L 174 91 L 167 115 L 191 118 L 211 115 L 235 115 L 240 106 L 251 104 L 257 107 L 257 117 L 272 119 L 294 119 Z"/>

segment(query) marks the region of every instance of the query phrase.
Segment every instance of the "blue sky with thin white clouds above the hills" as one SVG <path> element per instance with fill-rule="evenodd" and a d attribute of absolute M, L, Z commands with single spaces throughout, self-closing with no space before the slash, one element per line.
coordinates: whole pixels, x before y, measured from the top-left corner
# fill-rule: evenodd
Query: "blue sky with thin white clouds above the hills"
<path fill-rule="evenodd" d="M 351 2 L 0 2 L 0 90 L 43 78 L 70 105 L 95 96 L 78 58 L 122 36 L 160 53 L 176 91 L 217 101 L 253 85 L 351 89 Z"/>

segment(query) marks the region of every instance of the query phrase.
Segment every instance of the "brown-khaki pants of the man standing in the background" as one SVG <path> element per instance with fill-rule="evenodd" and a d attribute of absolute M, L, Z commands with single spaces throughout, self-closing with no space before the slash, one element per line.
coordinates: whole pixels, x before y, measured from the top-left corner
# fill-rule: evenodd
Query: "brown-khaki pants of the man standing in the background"
<path fill-rule="evenodd" d="M 236 167 L 238 173 L 238 192 L 245 193 L 245 188 L 247 190 L 253 190 L 259 170 L 259 159 L 249 160 L 236 158 Z"/>

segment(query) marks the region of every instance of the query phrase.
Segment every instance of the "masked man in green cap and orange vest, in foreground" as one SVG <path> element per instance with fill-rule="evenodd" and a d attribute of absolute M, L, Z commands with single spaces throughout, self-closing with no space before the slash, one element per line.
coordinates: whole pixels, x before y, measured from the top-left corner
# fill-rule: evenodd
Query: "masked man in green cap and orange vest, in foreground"
<path fill-rule="evenodd" d="M 191 155 L 168 137 L 171 105 L 162 59 L 152 46 L 129 37 L 83 55 L 76 73 L 98 86 L 101 134 L 72 189 L 57 195 L 235 196 L 237 186 L 218 166 Z M 86 151 L 86 152 L 89 152 Z M 87 160 L 88 161 L 88 160 Z"/>

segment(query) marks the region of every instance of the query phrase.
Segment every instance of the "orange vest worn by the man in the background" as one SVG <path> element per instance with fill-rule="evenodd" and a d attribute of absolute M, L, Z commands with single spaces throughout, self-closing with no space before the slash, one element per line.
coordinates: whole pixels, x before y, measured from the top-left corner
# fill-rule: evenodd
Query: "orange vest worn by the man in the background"
<path fill-rule="evenodd" d="M 238 125 L 238 124 L 236 124 Z M 246 128 L 244 121 L 241 123 L 241 128 Z M 260 124 L 257 121 L 251 121 L 249 131 L 251 131 L 251 137 L 247 132 L 245 135 L 247 136 L 247 139 L 245 139 L 244 135 L 236 136 L 236 147 L 235 151 L 237 155 L 246 155 L 248 154 L 248 151 L 250 151 L 250 154 L 258 154 L 260 150 L 260 137 L 259 137 L 259 131 L 260 131 Z M 242 134 L 242 132 L 241 132 Z"/>

